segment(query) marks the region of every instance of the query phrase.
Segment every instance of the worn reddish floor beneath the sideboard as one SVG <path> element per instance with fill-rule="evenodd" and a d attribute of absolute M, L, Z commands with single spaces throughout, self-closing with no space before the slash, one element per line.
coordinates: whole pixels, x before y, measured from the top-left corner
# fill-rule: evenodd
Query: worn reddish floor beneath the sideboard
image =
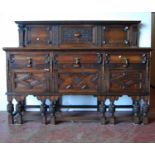
<path fill-rule="evenodd" d="M 62 115 L 65 116 L 62 119 Z M 44 125 L 39 112 L 27 112 L 23 125 L 8 125 L 7 113 L 0 112 L 1 143 L 106 143 L 155 142 L 155 89 L 151 89 L 150 122 L 132 123 L 131 112 L 118 112 L 116 125 L 101 125 L 95 112 L 62 113 L 57 125 Z M 123 117 L 122 117 L 123 116 Z"/>

